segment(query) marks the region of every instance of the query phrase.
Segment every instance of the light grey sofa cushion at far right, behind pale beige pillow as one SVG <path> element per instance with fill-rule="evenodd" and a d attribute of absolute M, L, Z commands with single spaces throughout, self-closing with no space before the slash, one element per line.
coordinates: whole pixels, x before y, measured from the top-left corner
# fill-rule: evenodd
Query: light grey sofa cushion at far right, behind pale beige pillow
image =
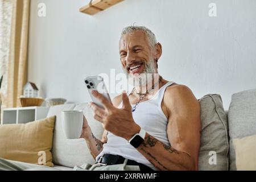
<path fill-rule="evenodd" d="M 235 93 L 229 106 L 230 170 L 236 170 L 233 139 L 256 134 L 256 89 Z"/>

